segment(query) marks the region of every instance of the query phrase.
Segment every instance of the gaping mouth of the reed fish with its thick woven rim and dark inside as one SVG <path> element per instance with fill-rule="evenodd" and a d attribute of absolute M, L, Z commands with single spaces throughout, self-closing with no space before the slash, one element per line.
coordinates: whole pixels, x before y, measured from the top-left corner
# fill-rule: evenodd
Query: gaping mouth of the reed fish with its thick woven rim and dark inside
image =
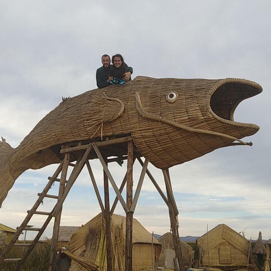
<path fill-rule="evenodd" d="M 246 79 L 226 78 L 218 81 L 210 91 L 207 103 L 210 105 L 210 113 L 223 123 L 235 126 L 251 127 L 259 129 L 256 124 L 239 123 L 233 119 L 233 114 L 238 104 L 263 91 L 262 87 Z"/>

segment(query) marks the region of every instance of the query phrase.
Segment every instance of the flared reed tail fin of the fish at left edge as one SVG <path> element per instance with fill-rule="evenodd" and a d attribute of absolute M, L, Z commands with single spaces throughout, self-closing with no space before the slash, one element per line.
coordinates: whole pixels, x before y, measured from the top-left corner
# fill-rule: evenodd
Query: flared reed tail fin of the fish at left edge
<path fill-rule="evenodd" d="M 2 142 L 0 141 L 0 208 L 15 181 L 9 172 L 9 160 L 13 153 L 14 148 L 2 138 Z"/>

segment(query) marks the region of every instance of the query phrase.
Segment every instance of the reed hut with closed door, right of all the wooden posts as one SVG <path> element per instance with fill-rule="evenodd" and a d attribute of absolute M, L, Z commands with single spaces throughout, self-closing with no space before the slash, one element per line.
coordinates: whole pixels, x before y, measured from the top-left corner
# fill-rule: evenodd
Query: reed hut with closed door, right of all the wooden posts
<path fill-rule="evenodd" d="M 202 266 L 247 266 L 249 241 L 225 224 L 220 224 L 197 240 Z"/>

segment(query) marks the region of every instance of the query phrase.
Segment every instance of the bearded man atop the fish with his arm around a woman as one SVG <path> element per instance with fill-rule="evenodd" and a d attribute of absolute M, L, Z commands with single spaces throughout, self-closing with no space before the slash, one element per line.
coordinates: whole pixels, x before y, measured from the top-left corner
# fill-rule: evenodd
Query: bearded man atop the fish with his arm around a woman
<path fill-rule="evenodd" d="M 102 67 L 98 68 L 96 71 L 96 83 L 99 89 L 109 86 L 109 81 L 113 79 L 113 76 L 109 76 L 110 56 L 102 55 L 101 57 Z M 127 82 L 133 73 L 132 67 L 129 67 L 129 71 L 124 73 L 123 79 Z"/>

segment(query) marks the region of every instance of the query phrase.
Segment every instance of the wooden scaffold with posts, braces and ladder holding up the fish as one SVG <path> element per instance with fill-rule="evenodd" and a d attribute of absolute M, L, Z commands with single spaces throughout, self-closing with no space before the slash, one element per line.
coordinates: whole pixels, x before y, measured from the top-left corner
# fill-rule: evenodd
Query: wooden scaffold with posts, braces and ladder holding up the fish
<path fill-rule="evenodd" d="M 105 231 L 106 231 L 106 244 L 107 244 L 107 271 L 112 270 L 112 244 L 111 244 L 111 215 L 114 213 L 115 207 L 117 202 L 120 201 L 125 213 L 126 213 L 126 266 L 125 270 L 132 271 L 132 219 L 133 213 L 136 208 L 136 204 L 139 198 L 139 194 L 142 188 L 143 179 L 145 174 L 151 179 L 151 182 L 154 184 L 155 188 L 167 204 L 169 208 L 169 215 L 170 215 L 170 225 L 173 233 L 173 243 L 176 252 L 176 270 L 184 271 L 183 261 L 182 261 L 182 251 L 179 242 L 179 232 L 178 232 L 178 208 L 176 206 L 176 202 L 173 196 L 170 175 L 168 169 L 163 169 L 163 176 L 166 185 L 167 196 L 164 195 L 163 191 L 155 181 L 154 177 L 151 175 L 149 170 L 147 169 L 148 160 L 145 159 L 143 162 L 141 159 L 140 152 L 135 148 L 132 137 L 130 135 L 126 136 L 111 136 L 106 137 L 106 140 L 101 141 L 101 139 L 92 139 L 88 141 L 80 141 L 80 142 L 70 142 L 65 145 L 59 146 L 60 152 L 59 157 L 61 157 L 61 164 L 58 166 L 55 173 L 48 177 L 48 183 L 43 189 L 41 193 L 38 193 L 39 198 L 37 199 L 36 203 L 33 205 L 32 209 L 27 211 L 27 216 L 23 220 L 20 227 L 17 228 L 17 232 L 13 236 L 12 240 L 9 244 L 5 247 L 4 251 L 0 256 L 0 265 L 5 262 L 17 262 L 17 271 L 21 269 L 23 263 L 25 262 L 26 258 L 29 256 L 33 248 L 35 247 L 36 243 L 38 242 L 39 238 L 42 236 L 45 228 L 48 226 L 48 223 L 54 217 L 54 228 L 53 228 L 53 236 L 52 236 L 52 243 L 51 243 L 51 251 L 50 251 L 50 259 L 49 259 L 49 266 L 48 270 L 53 271 L 55 267 L 55 255 L 56 255 L 56 248 L 58 242 L 58 235 L 59 235 L 59 226 L 60 226 L 60 219 L 61 219 L 61 211 L 62 211 L 62 204 L 67 197 L 71 187 L 73 186 L 74 182 L 76 181 L 77 177 L 79 176 L 81 170 L 86 165 L 89 171 L 90 179 L 92 181 L 92 185 L 95 190 L 95 194 L 98 199 L 98 203 L 102 210 L 102 214 L 106 221 Z M 108 157 L 116 157 L 116 158 L 108 158 Z M 104 172 L 104 204 L 101 200 L 100 193 L 98 191 L 98 187 L 92 172 L 91 165 L 89 160 L 92 159 L 99 159 Z M 139 177 L 139 182 L 136 187 L 136 191 L 133 197 L 133 164 L 135 160 L 138 160 L 139 163 L 142 165 L 142 172 Z M 120 188 L 117 187 L 108 167 L 107 164 L 114 161 L 119 160 L 127 160 L 127 172 L 123 178 L 123 181 L 120 185 Z M 72 163 L 76 161 L 76 163 Z M 67 179 L 67 170 L 68 167 L 73 167 L 73 170 Z M 58 175 L 61 173 L 60 179 L 58 179 Z M 116 198 L 114 203 L 111 206 L 109 205 L 109 182 L 111 183 L 115 193 Z M 54 182 L 59 182 L 59 191 L 58 195 L 48 195 L 48 191 L 53 185 Z M 126 201 L 124 200 L 123 196 L 121 195 L 123 188 L 126 184 Z M 41 212 L 37 211 L 37 208 L 42 203 L 43 198 L 55 198 L 57 199 L 57 203 L 51 210 L 51 212 Z M 18 243 L 15 244 L 15 241 L 21 234 L 23 230 L 25 230 L 27 223 L 30 221 L 31 217 L 34 214 L 45 215 L 47 219 L 45 220 L 44 224 L 41 228 L 31 228 L 31 230 L 38 231 L 35 239 L 32 243 Z M 27 228 L 27 230 L 29 230 Z M 11 250 L 13 246 L 27 246 L 26 251 L 24 252 L 22 258 L 19 259 L 8 259 L 6 258 L 8 252 Z"/>

